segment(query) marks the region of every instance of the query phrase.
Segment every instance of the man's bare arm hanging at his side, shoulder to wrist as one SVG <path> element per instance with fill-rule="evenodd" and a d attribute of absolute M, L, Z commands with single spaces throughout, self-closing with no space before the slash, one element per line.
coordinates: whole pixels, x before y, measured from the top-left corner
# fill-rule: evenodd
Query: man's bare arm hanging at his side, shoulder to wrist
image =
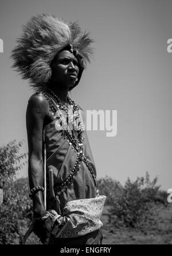
<path fill-rule="evenodd" d="M 43 95 L 33 95 L 28 102 L 26 111 L 26 128 L 28 133 L 28 174 L 30 189 L 44 184 L 44 160 L 42 157 L 42 130 L 47 114 L 48 103 Z M 34 217 L 46 213 L 42 192 L 33 197 Z"/>

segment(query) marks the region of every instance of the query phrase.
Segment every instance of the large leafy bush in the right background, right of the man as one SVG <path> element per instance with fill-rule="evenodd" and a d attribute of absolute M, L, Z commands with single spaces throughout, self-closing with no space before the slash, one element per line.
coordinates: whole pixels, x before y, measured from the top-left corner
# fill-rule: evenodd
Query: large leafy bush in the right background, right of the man
<path fill-rule="evenodd" d="M 110 214 L 115 216 L 114 224 L 118 227 L 142 227 L 146 223 L 154 223 L 159 204 L 164 204 L 164 198 L 157 185 L 157 178 L 150 180 L 137 178 L 132 182 L 129 178 L 124 186 L 111 178 L 99 180 L 99 189 L 107 195 L 111 205 Z"/>

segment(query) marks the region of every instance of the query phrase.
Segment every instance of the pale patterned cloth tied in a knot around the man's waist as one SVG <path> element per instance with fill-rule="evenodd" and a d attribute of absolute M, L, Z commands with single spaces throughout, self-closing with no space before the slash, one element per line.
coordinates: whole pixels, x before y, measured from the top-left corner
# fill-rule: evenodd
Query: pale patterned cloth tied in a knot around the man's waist
<path fill-rule="evenodd" d="M 100 229 L 105 198 L 105 195 L 100 195 L 70 201 L 65 205 L 62 216 L 49 210 L 52 221 L 55 219 L 52 235 L 55 238 L 75 238 Z"/>

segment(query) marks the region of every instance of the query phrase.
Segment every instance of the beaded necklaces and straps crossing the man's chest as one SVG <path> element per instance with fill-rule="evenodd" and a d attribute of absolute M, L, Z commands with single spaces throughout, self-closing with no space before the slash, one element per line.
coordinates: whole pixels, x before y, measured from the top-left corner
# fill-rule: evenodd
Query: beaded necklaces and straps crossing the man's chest
<path fill-rule="evenodd" d="M 37 92 L 38 93 L 42 93 L 45 96 L 45 99 L 48 101 L 49 103 L 49 108 L 50 108 L 50 112 L 52 112 L 52 115 L 54 116 L 54 119 L 58 120 L 58 123 L 61 125 L 62 127 L 62 116 L 61 116 L 61 111 L 64 112 L 65 111 L 65 118 L 67 118 L 68 122 L 71 122 L 71 117 L 68 113 L 67 108 L 64 106 L 64 104 L 62 104 L 60 102 L 60 99 L 58 99 L 58 97 L 56 95 L 54 95 L 54 93 L 49 90 L 48 92 Z M 60 130 L 61 134 L 64 135 L 65 138 L 67 138 L 67 141 L 69 142 L 69 145 L 72 145 L 73 148 L 75 148 L 76 152 L 77 152 L 77 159 L 75 162 L 75 165 L 73 167 L 73 169 L 71 170 L 70 175 L 67 177 L 67 179 L 63 180 L 61 183 L 59 183 L 56 187 L 54 187 L 54 190 L 59 193 L 61 191 L 66 191 L 68 188 L 71 188 L 72 183 L 73 183 L 73 178 L 74 176 L 77 175 L 77 173 L 80 170 L 80 165 L 81 162 L 84 161 L 84 163 L 86 164 L 89 172 L 92 175 L 93 181 L 95 183 L 95 187 L 97 188 L 96 185 L 96 176 L 95 173 L 93 171 L 92 165 L 90 163 L 90 161 L 87 159 L 87 157 L 84 155 L 83 152 L 83 137 L 82 134 L 84 132 L 84 125 L 81 122 L 81 118 L 80 118 L 80 114 L 79 114 L 79 107 L 74 103 L 74 101 L 72 101 L 69 97 L 68 97 L 68 102 L 70 104 L 70 106 L 72 106 L 73 111 L 75 112 L 75 114 L 73 115 L 73 117 L 77 120 L 77 127 L 75 125 L 73 125 L 73 133 L 71 133 L 67 127 L 65 126 L 65 129 L 63 127 L 63 129 Z"/>

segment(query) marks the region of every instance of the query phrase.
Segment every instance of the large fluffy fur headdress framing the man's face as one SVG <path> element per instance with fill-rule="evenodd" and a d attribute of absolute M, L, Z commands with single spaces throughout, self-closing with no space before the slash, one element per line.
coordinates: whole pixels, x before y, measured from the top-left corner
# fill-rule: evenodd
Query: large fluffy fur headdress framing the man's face
<path fill-rule="evenodd" d="M 86 63 L 90 62 L 92 42 L 89 34 L 81 32 L 76 22 L 67 24 L 54 16 L 37 15 L 24 25 L 22 35 L 17 39 L 18 45 L 11 54 L 13 67 L 34 89 L 44 89 L 52 76 L 50 64 L 59 51 L 71 44 L 79 57 L 82 73 Z"/>

